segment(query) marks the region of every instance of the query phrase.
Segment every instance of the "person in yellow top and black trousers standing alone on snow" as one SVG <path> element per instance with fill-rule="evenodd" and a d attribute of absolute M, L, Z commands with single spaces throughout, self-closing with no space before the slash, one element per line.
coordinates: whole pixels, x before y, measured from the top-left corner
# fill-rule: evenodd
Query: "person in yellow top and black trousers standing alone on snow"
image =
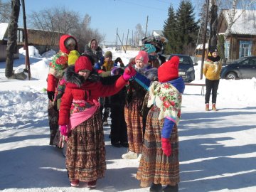
<path fill-rule="evenodd" d="M 207 60 L 203 63 L 203 75 L 206 76 L 206 111 L 209 111 L 210 92 L 212 93 L 212 110 L 216 109 L 217 90 L 220 82 L 220 70 L 222 63 L 220 62 L 220 56 L 218 50 L 215 47 L 211 47 L 208 53 Z"/>

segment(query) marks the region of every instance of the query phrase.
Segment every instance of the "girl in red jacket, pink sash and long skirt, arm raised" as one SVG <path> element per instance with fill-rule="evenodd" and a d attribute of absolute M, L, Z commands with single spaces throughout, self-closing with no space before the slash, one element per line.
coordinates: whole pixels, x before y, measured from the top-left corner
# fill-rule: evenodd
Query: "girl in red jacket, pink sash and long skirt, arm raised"
<path fill-rule="evenodd" d="M 114 95 L 136 74 L 132 68 L 124 70 L 113 85 L 102 85 L 91 78 L 92 63 L 81 55 L 74 67 L 65 73 L 65 92 L 60 102 L 60 132 L 68 135 L 66 168 L 71 186 L 87 182 L 95 188 L 106 169 L 105 142 L 100 115 L 99 97 Z"/>

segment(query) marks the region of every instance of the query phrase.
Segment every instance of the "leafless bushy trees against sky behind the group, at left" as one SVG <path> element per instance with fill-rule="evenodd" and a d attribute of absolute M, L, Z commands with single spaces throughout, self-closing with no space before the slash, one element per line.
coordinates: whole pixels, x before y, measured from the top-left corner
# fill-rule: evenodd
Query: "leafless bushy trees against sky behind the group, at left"
<path fill-rule="evenodd" d="M 29 18 L 33 28 L 43 31 L 58 31 L 75 36 L 78 40 L 80 52 L 83 51 L 85 44 L 92 38 L 97 39 L 98 43 L 105 38 L 97 29 L 90 28 L 91 17 L 88 14 L 81 21 L 80 15 L 75 11 L 68 11 L 65 8 L 53 8 L 40 12 L 33 11 Z M 52 39 L 54 41 L 55 38 Z"/>

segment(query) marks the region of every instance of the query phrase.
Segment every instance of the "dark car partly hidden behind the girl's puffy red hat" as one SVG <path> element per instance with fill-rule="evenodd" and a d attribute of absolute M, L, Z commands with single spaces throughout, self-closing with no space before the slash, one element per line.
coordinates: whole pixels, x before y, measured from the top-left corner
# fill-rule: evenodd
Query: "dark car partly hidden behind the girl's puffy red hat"
<path fill-rule="evenodd" d="M 191 82 L 195 80 L 195 69 L 193 68 L 193 60 L 189 55 L 181 55 L 181 54 L 171 54 L 169 59 L 172 57 L 178 56 L 180 58 L 180 63 L 178 64 L 178 75 L 183 78 L 184 82 Z"/>

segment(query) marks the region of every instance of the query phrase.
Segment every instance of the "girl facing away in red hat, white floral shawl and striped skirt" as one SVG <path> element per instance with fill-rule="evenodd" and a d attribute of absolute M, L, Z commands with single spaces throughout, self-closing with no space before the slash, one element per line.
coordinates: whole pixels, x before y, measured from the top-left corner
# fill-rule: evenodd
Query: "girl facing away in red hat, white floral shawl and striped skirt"
<path fill-rule="evenodd" d="M 184 82 L 178 77 L 177 56 L 158 69 L 159 82 L 149 87 L 146 132 L 137 179 L 150 191 L 178 192 L 178 122 L 181 117 L 181 100 Z"/>

